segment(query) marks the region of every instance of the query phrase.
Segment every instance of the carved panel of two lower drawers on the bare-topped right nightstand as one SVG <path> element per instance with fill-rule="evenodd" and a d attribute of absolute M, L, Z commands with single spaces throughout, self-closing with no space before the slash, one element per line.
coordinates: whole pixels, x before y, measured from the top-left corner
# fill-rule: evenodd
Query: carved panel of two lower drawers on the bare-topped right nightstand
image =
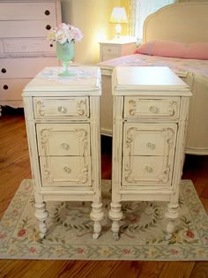
<path fill-rule="evenodd" d="M 123 185 L 171 185 L 177 124 L 124 124 Z"/>

